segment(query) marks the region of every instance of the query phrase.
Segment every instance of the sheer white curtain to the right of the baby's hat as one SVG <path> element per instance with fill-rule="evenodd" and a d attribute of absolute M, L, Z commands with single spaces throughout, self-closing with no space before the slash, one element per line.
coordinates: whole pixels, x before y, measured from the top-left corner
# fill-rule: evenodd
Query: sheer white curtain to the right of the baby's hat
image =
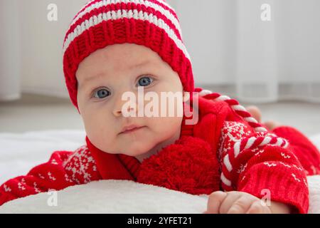
<path fill-rule="evenodd" d="M 167 0 L 196 86 L 247 102 L 320 102 L 319 0 Z M 262 4 L 271 21 L 262 21 Z"/>

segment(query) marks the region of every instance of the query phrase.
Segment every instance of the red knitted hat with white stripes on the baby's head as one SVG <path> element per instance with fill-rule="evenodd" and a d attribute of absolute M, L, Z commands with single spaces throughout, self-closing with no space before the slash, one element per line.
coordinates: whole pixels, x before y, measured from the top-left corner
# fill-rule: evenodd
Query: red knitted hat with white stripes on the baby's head
<path fill-rule="evenodd" d="M 75 15 L 63 43 L 63 72 L 76 108 L 80 62 L 97 49 L 136 43 L 155 51 L 178 73 L 183 89 L 193 92 L 191 58 L 174 9 L 164 0 L 92 0 Z"/>

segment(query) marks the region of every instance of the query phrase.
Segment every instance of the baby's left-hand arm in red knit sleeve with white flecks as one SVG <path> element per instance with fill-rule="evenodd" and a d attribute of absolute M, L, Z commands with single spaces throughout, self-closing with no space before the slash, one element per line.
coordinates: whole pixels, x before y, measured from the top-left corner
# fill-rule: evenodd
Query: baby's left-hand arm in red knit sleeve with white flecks
<path fill-rule="evenodd" d="M 56 151 L 50 160 L 33 167 L 25 176 L 8 180 L 0 186 L 0 205 L 13 199 L 50 190 L 82 185 L 100 180 L 95 160 L 86 146 L 74 152 Z"/>

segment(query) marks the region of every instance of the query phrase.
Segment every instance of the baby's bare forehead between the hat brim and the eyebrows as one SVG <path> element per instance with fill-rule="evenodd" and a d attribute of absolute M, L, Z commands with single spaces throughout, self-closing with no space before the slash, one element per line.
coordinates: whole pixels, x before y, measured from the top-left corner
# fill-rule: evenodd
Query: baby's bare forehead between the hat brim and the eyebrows
<path fill-rule="evenodd" d="M 150 48 L 125 43 L 107 46 L 91 53 L 80 63 L 76 75 L 82 83 L 103 75 L 112 78 L 122 73 L 141 73 L 139 71 L 156 73 L 161 69 L 169 69 L 167 65 L 168 63 Z"/>

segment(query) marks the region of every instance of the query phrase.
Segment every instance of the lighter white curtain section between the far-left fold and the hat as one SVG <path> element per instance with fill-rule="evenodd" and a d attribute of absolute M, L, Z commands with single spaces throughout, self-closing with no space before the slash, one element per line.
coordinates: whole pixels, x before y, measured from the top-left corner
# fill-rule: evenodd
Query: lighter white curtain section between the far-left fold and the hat
<path fill-rule="evenodd" d="M 0 0 L 10 1 L 10 0 Z M 88 0 L 28 0 L 21 7 L 23 92 L 68 98 L 63 76 L 63 39 L 73 16 Z M 48 20 L 55 4 L 57 21 Z M 49 9 L 48 9 L 49 8 Z"/>

